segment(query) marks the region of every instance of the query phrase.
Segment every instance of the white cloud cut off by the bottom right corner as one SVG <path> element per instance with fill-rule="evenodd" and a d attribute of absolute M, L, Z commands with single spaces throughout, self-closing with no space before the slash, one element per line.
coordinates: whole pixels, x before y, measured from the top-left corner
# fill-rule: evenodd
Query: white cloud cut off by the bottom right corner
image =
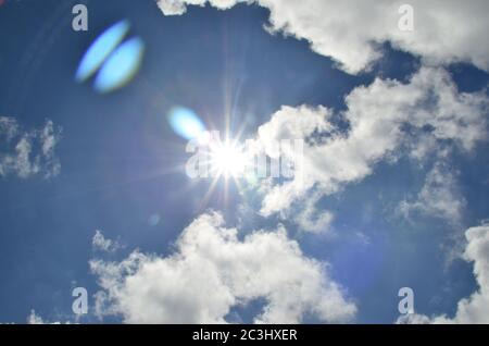
<path fill-rule="evenodd" d="M 398 323 L 489 323 L 489 225 L 468 228 L 465 237 L 467 246 L 464 258 L 474 263 L 474 275 L 478 289 L 469 297 L 459 301 L 453 318 L 408 314 L 400 317 Z"/>

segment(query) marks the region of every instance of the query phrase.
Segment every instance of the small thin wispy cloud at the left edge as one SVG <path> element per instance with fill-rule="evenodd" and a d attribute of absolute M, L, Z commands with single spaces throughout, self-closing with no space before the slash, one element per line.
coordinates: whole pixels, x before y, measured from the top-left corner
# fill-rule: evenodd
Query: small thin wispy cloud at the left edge
<path fill-rule="evenodd" d="M 61 129 L 48 120 L 40 129 L 23 131 L 13 118 L 0 116 L 0 176 L 46 178 L 60 173 L 55 147 Z"/>

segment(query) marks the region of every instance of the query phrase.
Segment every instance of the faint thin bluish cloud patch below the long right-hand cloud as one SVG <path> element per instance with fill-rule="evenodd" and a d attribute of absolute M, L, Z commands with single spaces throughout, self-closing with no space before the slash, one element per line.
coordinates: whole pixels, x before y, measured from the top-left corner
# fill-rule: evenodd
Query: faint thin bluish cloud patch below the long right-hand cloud
<path fill-rule="evenodd" d="M 459 226 L 465 205 L 456 184 L 456 173 L 446 163 L 437 162 L 426 176 L 417 198 L 413 201 L 403 200 L 398 211 L 408 219 L 413 211 L 418 211 Z"/>

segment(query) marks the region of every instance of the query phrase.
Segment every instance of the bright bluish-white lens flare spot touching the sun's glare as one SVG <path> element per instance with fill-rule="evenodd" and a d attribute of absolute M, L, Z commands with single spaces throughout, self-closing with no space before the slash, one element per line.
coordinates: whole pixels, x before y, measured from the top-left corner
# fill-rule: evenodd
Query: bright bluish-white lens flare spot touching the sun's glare
<path fill-rule="evenodd" d="M 180 137 L 193 139 L 205 132 L 205 126 L 199 116 L 190 109 L 175 107 L 168 113 L 170 126 Z"/>

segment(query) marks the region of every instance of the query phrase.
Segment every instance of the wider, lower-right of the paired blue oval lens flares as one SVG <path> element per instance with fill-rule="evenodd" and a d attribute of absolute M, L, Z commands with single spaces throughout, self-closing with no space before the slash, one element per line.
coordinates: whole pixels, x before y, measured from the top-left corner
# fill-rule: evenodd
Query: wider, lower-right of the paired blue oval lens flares
<path fill-rule="evenodd" d="M 145 44 L 139 37 L 121 45 L 108 59 L 95 81 L 99 92 L 122 88 L 134 78 L 141 65 Z"/>

